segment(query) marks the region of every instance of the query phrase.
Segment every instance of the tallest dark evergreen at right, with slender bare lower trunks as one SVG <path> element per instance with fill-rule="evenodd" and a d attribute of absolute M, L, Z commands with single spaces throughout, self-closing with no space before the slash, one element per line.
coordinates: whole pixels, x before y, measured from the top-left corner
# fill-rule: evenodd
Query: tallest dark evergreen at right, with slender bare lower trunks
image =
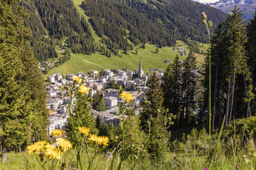
<path fill-rule="evenodd" d="M 242 15 L 243 12 L 235 6 L 226 21 L 217 25 L 213 34 L 211 45 L 213 130 L 221 125 L 224 114 L 226 114 L 226 125 L 230 124 L 233 118 L 250 115 L 250 101 L 254 95 L 245 53 L 247 40 Z M 204 75 L 205 99 L 209 90 L 209 84 L 206 82 L 209 80 L 208 66 L 209 64 L 206 64 Z M 204 110 L 206 107 L 208 106 L 205 104 Z"/>

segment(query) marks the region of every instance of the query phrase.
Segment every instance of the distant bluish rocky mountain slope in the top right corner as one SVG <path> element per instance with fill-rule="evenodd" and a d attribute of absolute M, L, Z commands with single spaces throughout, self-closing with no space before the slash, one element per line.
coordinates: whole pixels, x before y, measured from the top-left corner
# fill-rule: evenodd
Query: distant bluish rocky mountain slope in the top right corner
<path fill-rule="evenodd" d="M 220 0 L 215 3 L 207 3 L 214 8 L 220 9 L 223 12 L 231 12 L 234 5 L 237 5 L 242 11 L 244 11 L 244 19 L 250 19 L 256 9 L 256 0 Z"/>

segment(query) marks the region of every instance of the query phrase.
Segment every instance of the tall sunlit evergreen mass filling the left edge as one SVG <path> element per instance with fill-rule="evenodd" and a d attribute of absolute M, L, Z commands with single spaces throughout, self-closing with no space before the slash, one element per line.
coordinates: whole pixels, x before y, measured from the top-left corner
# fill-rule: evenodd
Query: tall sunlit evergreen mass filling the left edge
<path fill-rule="evenodd" d="M 18 1 L 0 1 L 0 140 L 7 151 L 45 139 L 47 110 L 41 72 L 30 49 L 26 14 Z"/>

